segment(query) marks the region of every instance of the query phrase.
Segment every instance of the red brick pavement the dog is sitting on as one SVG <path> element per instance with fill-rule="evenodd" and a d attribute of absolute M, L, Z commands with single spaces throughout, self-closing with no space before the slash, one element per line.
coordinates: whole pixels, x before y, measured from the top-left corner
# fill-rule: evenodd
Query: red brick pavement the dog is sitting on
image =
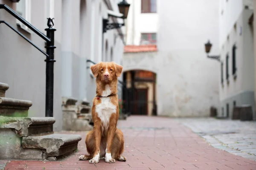
<path fill-rule="evenodd" d="M 119 121 L 118 126 L 125 135 L 126 162 L 79 161 L 78 157 L 86 153 L 86 132 L 80 132 L 76 133 L 83 137 L 79 151 L 68 158 L 46 162 L 10 161 L 5 170 L 256 170 L 256 161 L 210 146 L 174 119 L 131 116 Z"/>

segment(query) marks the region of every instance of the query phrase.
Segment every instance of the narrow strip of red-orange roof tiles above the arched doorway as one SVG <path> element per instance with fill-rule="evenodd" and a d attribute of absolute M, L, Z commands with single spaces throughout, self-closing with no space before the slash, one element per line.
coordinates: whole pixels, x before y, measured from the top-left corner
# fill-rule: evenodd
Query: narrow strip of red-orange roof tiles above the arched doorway
<path fill-rule="evenodd" d="M 157 51 L 157 45 L 125 45 L 124 53 Z"/>

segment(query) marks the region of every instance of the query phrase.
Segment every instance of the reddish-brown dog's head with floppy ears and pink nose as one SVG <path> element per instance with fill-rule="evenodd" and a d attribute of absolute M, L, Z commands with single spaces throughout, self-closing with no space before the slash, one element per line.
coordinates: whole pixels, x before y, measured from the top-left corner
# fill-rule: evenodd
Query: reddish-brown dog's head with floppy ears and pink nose
<path fill-rule="evenodd" d="M 122 66 L 115 62 L 99 62 L 90 67 L 93 76 L 105 83 L 116 81 L 121 76 Z"/>

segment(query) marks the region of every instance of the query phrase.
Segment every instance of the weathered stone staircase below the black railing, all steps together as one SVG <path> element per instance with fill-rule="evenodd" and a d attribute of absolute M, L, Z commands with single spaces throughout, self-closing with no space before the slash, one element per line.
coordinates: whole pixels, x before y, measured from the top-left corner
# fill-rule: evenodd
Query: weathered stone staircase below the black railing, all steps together
<path fill-rule="evenodd" d="M 53 117 L 26 117 L 32 102 L 6 98 L 8 88 L 0 83 L 0 159 L 54 161 L 77 149 L 81 136 L 55 134 Z"/>

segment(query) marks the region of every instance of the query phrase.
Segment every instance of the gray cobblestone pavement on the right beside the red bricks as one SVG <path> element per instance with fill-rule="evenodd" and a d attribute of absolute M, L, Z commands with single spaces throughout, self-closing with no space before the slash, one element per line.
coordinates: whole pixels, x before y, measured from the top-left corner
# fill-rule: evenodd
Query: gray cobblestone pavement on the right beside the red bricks
<path fill-rule="evenodd" d="M 215 118 L 176 120 L 213 147 L 256 161 L 256 121 Z"/>

